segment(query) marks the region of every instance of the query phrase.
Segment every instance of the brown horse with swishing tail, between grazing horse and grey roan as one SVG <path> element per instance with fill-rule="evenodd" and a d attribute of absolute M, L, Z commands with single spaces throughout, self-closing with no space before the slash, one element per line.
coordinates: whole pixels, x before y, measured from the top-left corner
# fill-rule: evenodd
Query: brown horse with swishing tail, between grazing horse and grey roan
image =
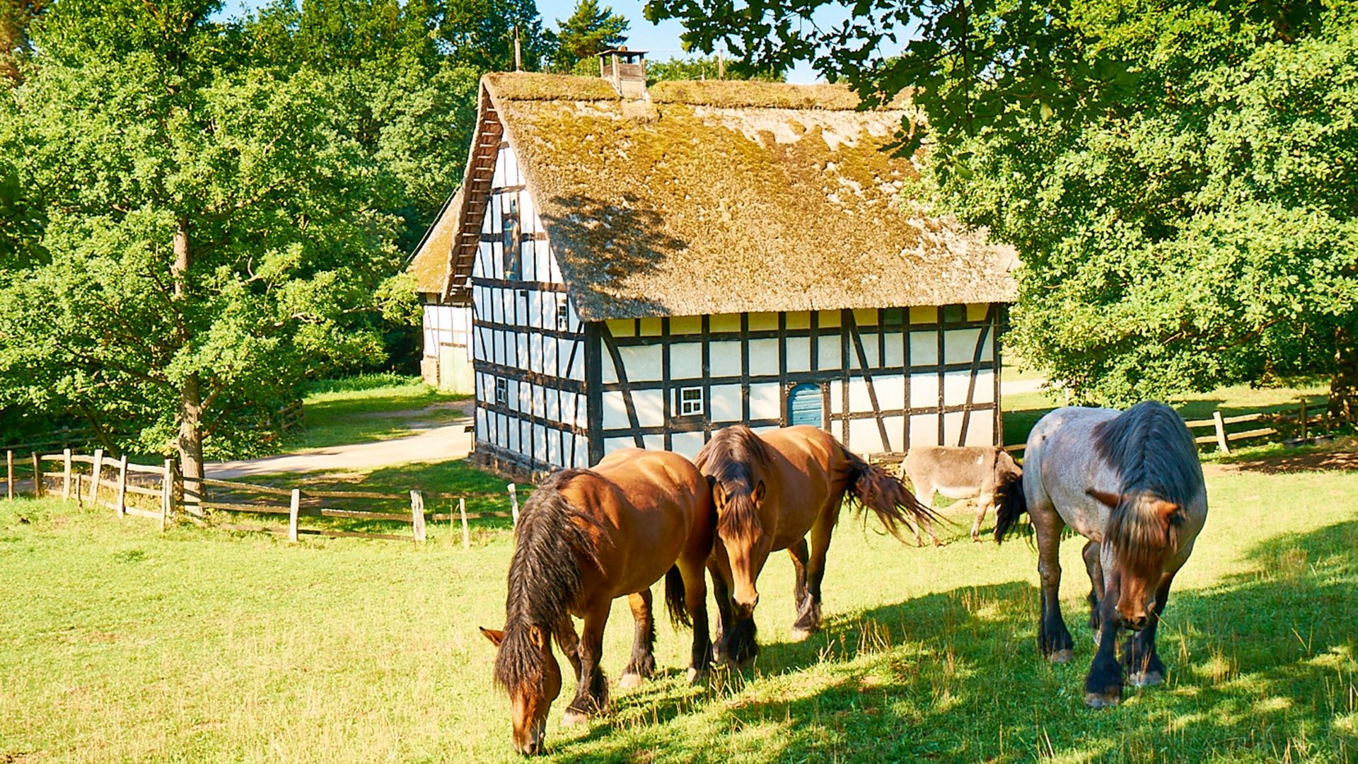
<path fill-rule="evenodd" d="M 872 510 L 896 538 L 909 517 L 934 518 L 895 477 L 850 453 L 828 432 L 786 427 L 755 435 L 746 426 L 717 431 L 697 458 L 712 483 L 717 538 L 709 570 L 721 617 L 717 653 L 736 663 L 755 657 L 755 579 L 770 552 L 786 549 L 796 570 L 793 636 L 820 628 L 820 580 L 845 495 Z M 807 533 L 811 533 L 808 555 Z"/>

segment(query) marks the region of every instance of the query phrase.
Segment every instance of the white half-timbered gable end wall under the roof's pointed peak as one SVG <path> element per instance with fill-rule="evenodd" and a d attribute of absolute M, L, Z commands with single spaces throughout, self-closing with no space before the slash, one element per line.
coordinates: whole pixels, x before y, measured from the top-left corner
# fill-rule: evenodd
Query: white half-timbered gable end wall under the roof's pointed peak
<path fill-rule="evenodd" d="M 530 470 L 588 466 L 585 325 L 507 141 L 486 205 L 471 272 L 475 447 Z"/>

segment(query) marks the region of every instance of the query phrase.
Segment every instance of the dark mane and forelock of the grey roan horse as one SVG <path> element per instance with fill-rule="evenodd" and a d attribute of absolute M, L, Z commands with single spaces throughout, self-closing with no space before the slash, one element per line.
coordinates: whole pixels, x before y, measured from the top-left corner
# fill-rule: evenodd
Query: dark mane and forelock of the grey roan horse
<path fill-rule="evenodd" d="M 1177 523 L 1152 511 L 1146 495 L 1188 504 L 1202 488 L 1198 446 L 1175 411 L 1143 401 L 1093 427 L 1096 453 L 1122 476 L 1124 499 L 1112 508 L 1105 530 L 1127 563 L 1153 563 L 1177 546 Z M 1131 500 L 1128 500 L 1130 498 Z"/>

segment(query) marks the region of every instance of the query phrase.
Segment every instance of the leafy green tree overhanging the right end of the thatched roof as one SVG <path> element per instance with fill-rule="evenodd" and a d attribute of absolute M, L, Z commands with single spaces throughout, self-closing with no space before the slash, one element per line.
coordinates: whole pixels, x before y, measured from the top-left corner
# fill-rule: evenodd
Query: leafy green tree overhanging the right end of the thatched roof
<path fill-rule="evenodd" d="M 826 5 L 646 14 L 706 49 L 811 58 L 870 103 L 909 90 L 913 190 L 1017 246 L 1010 338 L 1078 398 L 1317 372 L 1358 413 L 1353 4 L 909 0 L 816 26 Z"/>

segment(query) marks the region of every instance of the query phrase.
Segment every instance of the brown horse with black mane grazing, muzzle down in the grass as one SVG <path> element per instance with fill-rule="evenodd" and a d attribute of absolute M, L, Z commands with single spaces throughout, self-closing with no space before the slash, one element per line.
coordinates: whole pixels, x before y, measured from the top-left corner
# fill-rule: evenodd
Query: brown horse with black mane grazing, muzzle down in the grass
<path fill-rule="evenodd" d="M 494 676 L 513 706 L 515 749 L 543 750 L 547 710 L 561 692 L 553 638 L 576 670 L 562 723 L 607 708 L 599 655 L 617 597 L 629 595 L 637 627 L 622 684 L 650 674 L 650 585 L 661 576 L 671 620 L 693 625 L 689 678 L 697 681 L 712 661 L 703 566 L 714 522 L 702 474 L 667 451 L 614 451 L 592 470 L 558 472 L 534 491 L 515 532 L 505 628 L 481 629 L 498 648 Z M 579 638 L 572 616 L 584 619 Z"/>

